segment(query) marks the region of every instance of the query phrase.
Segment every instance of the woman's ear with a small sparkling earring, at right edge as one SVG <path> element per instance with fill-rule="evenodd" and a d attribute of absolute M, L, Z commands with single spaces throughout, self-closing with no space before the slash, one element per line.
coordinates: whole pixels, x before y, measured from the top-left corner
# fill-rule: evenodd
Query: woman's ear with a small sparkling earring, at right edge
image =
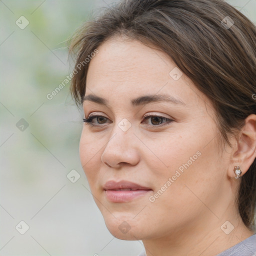
<path fill-rule="evenodd" d="M 233 148 L 234 150 L 231 155 L 232 166 L 229 167 L 228 175 L 235 177 L 233 167 L 238 165 L 242 171 L 242 176 L 256 157 L 256 114 L 247 116 Z"/>

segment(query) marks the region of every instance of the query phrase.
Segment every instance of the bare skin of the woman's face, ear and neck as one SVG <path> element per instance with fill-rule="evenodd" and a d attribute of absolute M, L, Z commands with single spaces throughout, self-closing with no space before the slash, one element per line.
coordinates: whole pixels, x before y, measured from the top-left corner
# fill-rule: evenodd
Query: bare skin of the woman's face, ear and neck
<path fill-rule="evenodd" d="M 235 205 L 239 179 L 233 167 L 239 165 L 244 174 L 255 158 L 255 115 L 230 137 L 231 147 L 224 145 L 211 102 L 184 74 L 177 80 L 169 75 L 176 65 L 165 53 L 121 37 L 98 50 L 89 63 L 85 95 L 103 97 L 108 106 L 85 100 L 83 109 L 85 118 L 97 113 L 107 119 L 83 124 L 79 153 L 111 234 L 142 240 L 147 256 L 213 256 L 252 235 Z M 131 105 L 131 99 L 148 94 L 168 94 L 184 104 Z M 172 121 L 153 125 L 155 119 L 145 119 L 146 113 Z M 118 126 L 123 118 L 131 124 L 127 131 Z M 190 157 L 189 167 L 166 185 Z M 108 180 L 129 180 L 152 191 L 128 202 L 109 202 L 103 190 Z M 165 191 L 150 201 L 164 184 Z M 130 228 L 126 233 L 118 228 L 123 221 Z M 220 228 L 225 221 L 229 234 Z"/>

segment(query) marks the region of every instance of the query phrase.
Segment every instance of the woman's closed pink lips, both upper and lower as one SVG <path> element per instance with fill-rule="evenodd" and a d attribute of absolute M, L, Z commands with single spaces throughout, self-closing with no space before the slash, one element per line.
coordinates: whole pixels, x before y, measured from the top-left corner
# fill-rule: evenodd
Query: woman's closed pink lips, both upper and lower
<path fill-rule="evenodd" d="M 121 180 L 119 182 L 109 180 L 104 184 L 103 189 L 105 190 L 106 199 L 110 202 L 131 201 L 152 191 L 149 187 L 127 180 Z"/>

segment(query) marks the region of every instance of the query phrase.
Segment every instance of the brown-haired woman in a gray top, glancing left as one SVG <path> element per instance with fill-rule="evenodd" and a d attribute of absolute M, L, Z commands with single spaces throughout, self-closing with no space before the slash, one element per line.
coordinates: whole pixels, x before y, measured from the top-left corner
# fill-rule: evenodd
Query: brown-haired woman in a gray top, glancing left
<path fill-rule="evenodd" d="M 81 164 L 140 255 L 255 255 L 255 36 L 222 0 L 122 0 L 73 38 Z"/>

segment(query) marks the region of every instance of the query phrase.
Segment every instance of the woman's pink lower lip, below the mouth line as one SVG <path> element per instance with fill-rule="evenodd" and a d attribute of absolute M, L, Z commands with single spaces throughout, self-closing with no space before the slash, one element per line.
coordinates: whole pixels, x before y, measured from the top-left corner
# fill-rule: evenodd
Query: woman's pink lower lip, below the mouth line
<path fill-rule="evenodd" d="M 106 198 L 111 202 L 126 202 L 152 190 L 105 190 Z"/>

